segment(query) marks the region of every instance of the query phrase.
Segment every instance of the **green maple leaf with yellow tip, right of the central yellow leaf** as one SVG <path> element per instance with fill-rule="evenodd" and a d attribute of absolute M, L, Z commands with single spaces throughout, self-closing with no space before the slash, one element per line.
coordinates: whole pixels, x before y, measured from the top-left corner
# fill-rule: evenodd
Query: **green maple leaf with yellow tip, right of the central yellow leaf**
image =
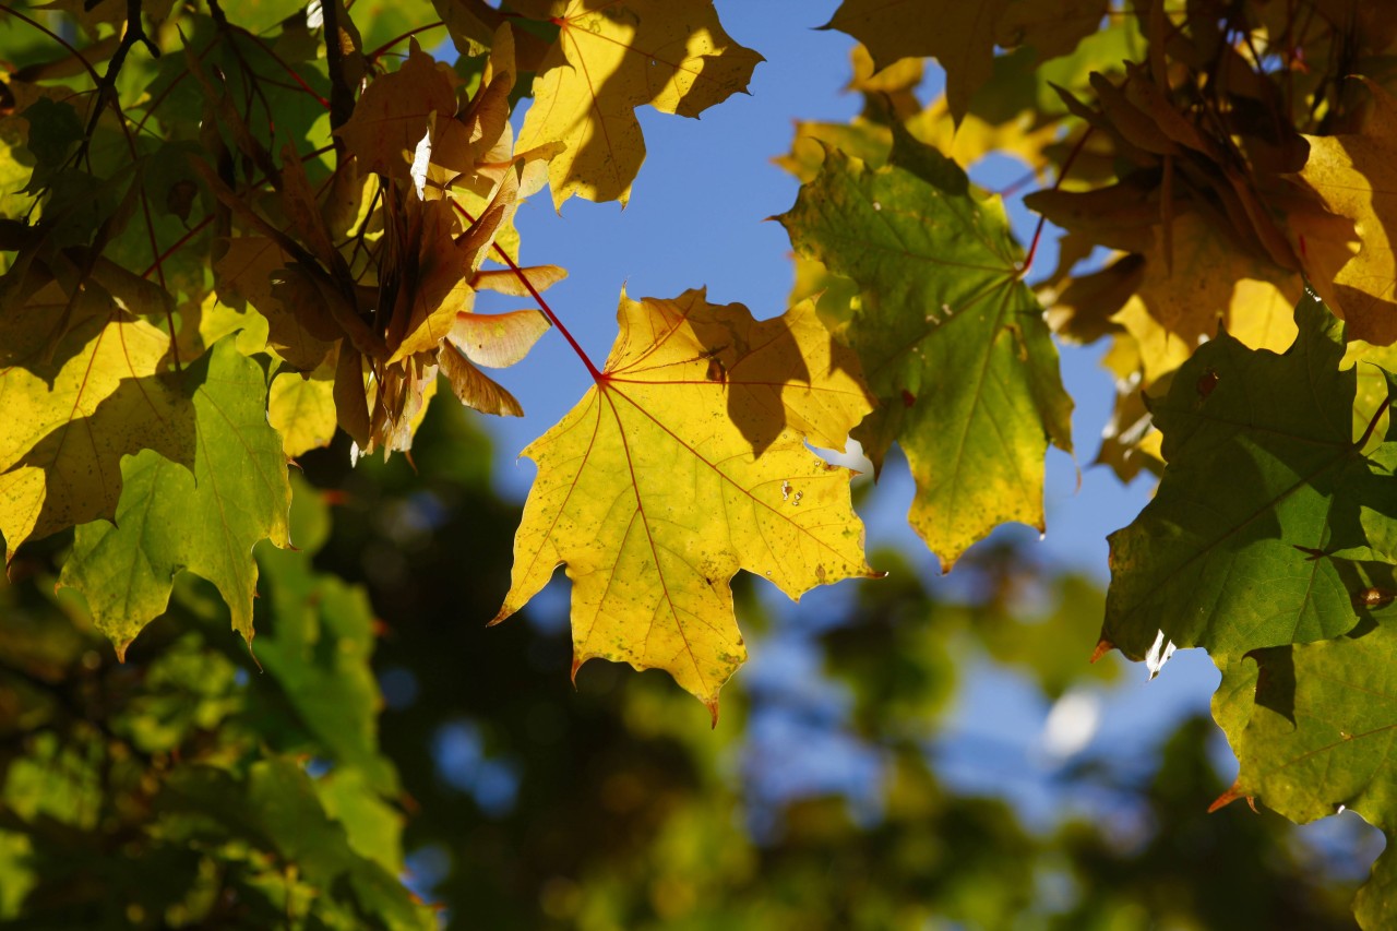
<path fill-rule="evenodd" d="M 863 288 L 840 331 L 879 410 L 854 433 L 875 464 L 895 440 L 911 521 L 942 568 L 996 526 L 1044 527 L 1044 456 L 1071 449 L 1071 401 L 997 199 L 897 131 L 890 165 L 828 148 L 778 219 L 796 250 Z"/>

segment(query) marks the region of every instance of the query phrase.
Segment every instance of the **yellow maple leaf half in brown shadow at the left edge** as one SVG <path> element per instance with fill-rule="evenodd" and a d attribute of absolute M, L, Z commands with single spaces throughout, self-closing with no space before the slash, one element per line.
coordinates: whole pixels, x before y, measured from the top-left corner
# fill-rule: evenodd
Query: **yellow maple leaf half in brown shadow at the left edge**
<path fill-rule="evenodd" d="M 47 334 L 52 319 L 24 308 L 18 330 Z M 14 334 L 14 330 L 10 330 Z M 42 341 L 21 340 L 31 345 Z M 193 410 L 163 375 L 169 337 L 112 308 L 43 352 L 0 370 L 0 533 L 7 559 L 31 537 L 112 517 L 123 456 L 155 449 L 194 460 Z"/>

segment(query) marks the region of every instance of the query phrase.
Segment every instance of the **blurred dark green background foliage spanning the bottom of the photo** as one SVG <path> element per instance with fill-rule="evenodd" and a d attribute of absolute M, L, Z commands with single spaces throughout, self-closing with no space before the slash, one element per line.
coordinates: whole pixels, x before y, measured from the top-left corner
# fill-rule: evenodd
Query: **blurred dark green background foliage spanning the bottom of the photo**
<path fill-rule="evenodd" d="M 46 594 L 61 544 L 17 563 L 6 927 L 432 927 L 398 876 L 453 928 L 1352 927 L 1352 868 L 1316 868 L 1278 816 L 1204 812 L 1225 783 L 1201 719 L 1157 759 L 1025 772 L 1090 800 L 1048 826 L 939 773 L 964 670 L 1062 695 L 1099 616 L 1087 579 L 1006 544 L 951 602 L 883 554 L 887 584 L 835 598 L 813 637 L 742 587 L 774 665 L 708 730 L 659 672 L 591 664 L 574 691 L 562 604 L 483 626 L 517 513 L 465 417 L 427 417 L 416 472 L 344 453 L 305 457 L 302 551 L 258 551 L 256 658 L 182 576 L 117 664 L 71 593 Z M 823 670 L 781 672 L 792 636 Z M 1118 670 L 1087 668 L 1098 689 Z M 792 787 L 784 739 L 858 774 Z"/>

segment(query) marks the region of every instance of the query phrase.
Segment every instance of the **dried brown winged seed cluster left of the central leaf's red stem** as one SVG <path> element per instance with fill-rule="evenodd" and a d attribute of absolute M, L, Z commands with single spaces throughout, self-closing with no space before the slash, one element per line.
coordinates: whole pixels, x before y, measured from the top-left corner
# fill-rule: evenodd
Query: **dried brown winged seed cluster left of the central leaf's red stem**
<path fill-rule="evenodd" d="M 275 196 L 251 204 L 204 172 L 250 233 L 225 243 L 219 295 L 260 310 L 268 348 L 288 363 L 332 380 L 355 454 L 409 449 L 439 372 L 464 404 L 522 414 L 476 366 L 520 361 L 548 322 L 535 310 L 472 312 L 476 284 L 502 288 L 482 261 L 513 238 L 518 199 L 545 183 L 560 148 L 513 151 L 513 56 L 502 27 L 479 92 L 461 103 L 455 74 L 414 42 L 335 130 L 346 159 L 323 205 L 289 147 Z M 556 267 L 522 274 L 538 288 L 563 277 Z"/>

